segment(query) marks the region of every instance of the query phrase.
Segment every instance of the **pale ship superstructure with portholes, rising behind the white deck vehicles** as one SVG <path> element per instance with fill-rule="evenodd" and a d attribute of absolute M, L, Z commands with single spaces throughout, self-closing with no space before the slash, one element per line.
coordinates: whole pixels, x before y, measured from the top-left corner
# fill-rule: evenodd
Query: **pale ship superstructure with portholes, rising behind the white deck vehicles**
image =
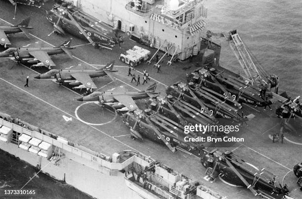
<path fill-rule="evenodd" d="M 203 44 L 212 43 L 202 33 L 207 17 L 205 0 L 107 0 L 102 6 L 97 0 L 73 2 L 106 24 L 182 60 L 191 53 L 204 53 Z"/>

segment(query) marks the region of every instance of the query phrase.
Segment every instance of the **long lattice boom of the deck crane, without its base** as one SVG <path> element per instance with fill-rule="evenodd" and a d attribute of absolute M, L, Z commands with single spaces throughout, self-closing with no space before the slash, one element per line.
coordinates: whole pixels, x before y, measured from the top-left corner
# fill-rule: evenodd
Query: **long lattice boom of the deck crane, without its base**
<path fill-rule="evenodd" d="M 251 79 L 252 85 L 262 85 L 263 83 L 267 84 L 264 79 L 261 77 L 260 72 L 258 71 L 257 66 L 253 62 L 252 57 L 250 56 L 248 50 L 246 49 L 243 41 L 241 40 L 237 30 L 230 32 L 230 37 L 228 37 L 228 44 L 232 51 L 234 52 L 239 64 L 244 70 L 246 76 Z M 232 42 L 233 41 L 233 42 Z M 233 44 L 233 45 L 232 45 Z"/>

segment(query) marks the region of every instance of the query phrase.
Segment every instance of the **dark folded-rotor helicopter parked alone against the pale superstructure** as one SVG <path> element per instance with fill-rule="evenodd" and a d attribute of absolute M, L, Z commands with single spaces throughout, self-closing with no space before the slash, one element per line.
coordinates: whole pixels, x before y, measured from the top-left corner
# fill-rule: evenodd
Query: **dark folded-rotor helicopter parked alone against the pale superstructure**
<path fill-rule="evenodd" d="M 118 38 L 107 24 L 66 2 L 54 4 L 50 11 L 46 11 L 46 18 L 53 23 L 54 30 L 51 33 L 65 35 L 65 32 L 69 32 L 88 40 L 95 48 L 112 50 L 115 44 L 123 42 L 122 37 Z"/>

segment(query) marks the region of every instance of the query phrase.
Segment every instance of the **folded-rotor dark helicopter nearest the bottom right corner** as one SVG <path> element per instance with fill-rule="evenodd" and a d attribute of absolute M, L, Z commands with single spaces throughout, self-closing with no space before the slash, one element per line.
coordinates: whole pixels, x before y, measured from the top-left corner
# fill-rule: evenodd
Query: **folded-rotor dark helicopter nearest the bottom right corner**
<path fill-rule="evenodd" d="M 219 177 L 231 186 L 247 187 L 255 196 L 263 199 L 293 199 L 289 195 L 287 185 L 275 183 L 276 175 L 265 169 L 258 169 L 232 152 L 208 152 L 202 149 L 201 163 L 207 168 L 204 179 L 214 181 Z"/>

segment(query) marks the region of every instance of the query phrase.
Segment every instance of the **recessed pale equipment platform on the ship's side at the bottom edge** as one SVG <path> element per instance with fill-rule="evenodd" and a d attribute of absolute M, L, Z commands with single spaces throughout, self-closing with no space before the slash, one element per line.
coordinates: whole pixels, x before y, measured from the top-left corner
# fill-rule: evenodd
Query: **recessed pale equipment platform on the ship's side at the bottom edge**
<path fill-rule="evenodd" d="M 133 164 L 125 172 L 125 182 L 144 199 L 227 199 L 160 163 Z"/>

